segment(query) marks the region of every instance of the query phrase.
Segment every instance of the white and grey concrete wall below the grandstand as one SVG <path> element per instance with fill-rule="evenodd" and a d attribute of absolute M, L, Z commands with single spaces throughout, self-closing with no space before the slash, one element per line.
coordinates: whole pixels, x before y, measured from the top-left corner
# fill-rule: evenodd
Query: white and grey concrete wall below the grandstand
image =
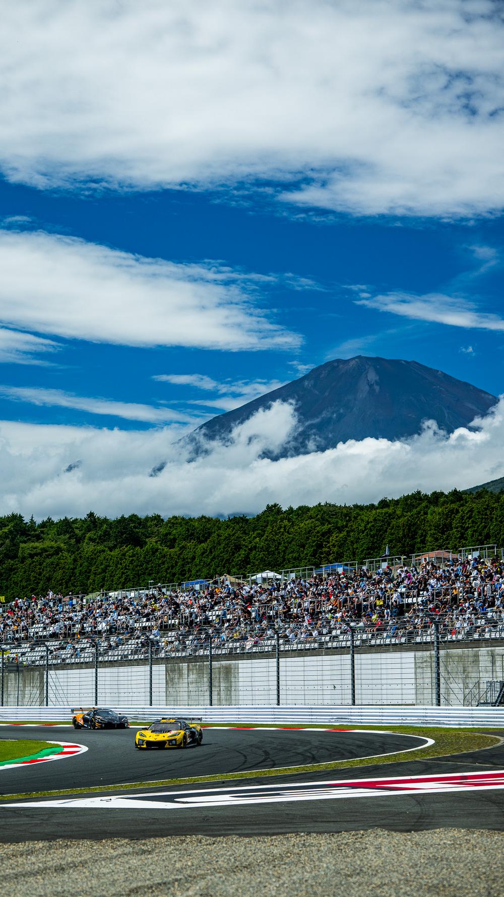
<path fill-rule="evenodd" d="M 91 665 L 49 667 L 50 705 L 94 702 Z M 343 705 L 351 703 L 348 652 L 281 654 L 282 705 Z M 504 681 L 504 649 L 441 650 L 443 704 L 477 702 L 486 681 Z M 153 661 L 154 705 L 204 706 L 209 702 L 207 658 Z M 149 666 L 146 661 L 100 664 L 100 703 L 149 703 Z M 435 702 L 434 658 L 431 650 L 394 649 L 357 651 L 355 698 L 359 705 L 416 705 Z M 4 705 L 38 706 L 45 702 L 43 667 L 9 668 L 4 673 Z M 213 660 L 213 705 L 254 706 L 276 703 L 276 664 L 271 656 L 230 656 Z"/>

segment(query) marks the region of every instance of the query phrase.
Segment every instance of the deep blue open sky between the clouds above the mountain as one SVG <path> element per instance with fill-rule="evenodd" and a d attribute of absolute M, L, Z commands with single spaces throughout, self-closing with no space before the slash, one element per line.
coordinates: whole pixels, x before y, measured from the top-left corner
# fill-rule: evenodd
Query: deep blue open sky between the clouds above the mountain
<path fill-rule="evenodd" d="M 4 388 L 64 390 L 76 396 L 126 405 L 172 405 L 187 416 L 216 414 L 212 405 L 248 399 L 269 385 L 299 376 L 336 357 L 354 354 L 407 358 L 447 371 L 499 395 L 504 390 L 504 330 L 454 327 L 360 305 L 361 296 L 438 293 L 471 302 L 481 313 L 502 309 L 502 218 L 439 222 L 417 218 L 355 219 L 349 215 L 275 209 L 260 199 L 226 202 L 213 191 L 126 192 L 96 196 L 78 191 L 40 191 L 4 181 L 0 187 L 4 228 L 79 238 L 147 258 L 180 265 L 214 264 L 247 279 L 251 300 L 279 328 L 297 335 L 286 346 L 229 351 L 200 347 L 148 346 L 68 339 L 31 333 L 56 344 L 30 361 L 4 361 Z M 269 280 L 271 278 L 271 282 Z M 72 301 L 69 295 L 69 301 Z M 407 309 L 405 309 L 407 311 Z M 153 379 L 199 375 L 229 390 Z M 243 384 L 243 390 L 235 384 Z M 245 390 L 245 392 L 244 392 Z M 34 397 L 37 394 L 34 393 Z M 57 405 L 32 405 L 22 396 L 0 399 L 7 420 L 101 426 L 148 427 L 152 422 L 120 414 L 97 415 Z M 192 405 L 208 401 L 210 405 Z M 113 407 L 111 406 L 112 410 Z M 120 408 L 119 408 L 120 411 Z M 135 414 L 135 410 L 132 411 Z"/>

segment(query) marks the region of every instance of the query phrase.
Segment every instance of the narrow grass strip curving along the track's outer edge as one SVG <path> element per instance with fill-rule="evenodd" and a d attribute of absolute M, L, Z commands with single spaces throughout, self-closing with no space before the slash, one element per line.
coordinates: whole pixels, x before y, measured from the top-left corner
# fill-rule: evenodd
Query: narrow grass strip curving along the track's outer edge
<path fill-rule="evenodd" d="M 227 724 L 230 725 L 230 724 Z M 310 727 L 315 728 L 315 727 Z M 317 728 L 326 728 L 319 726 Z M 317 772 L 327 770 L 347 770 L 354 766 L 378 766 L 387 763 L 397 763 L 412 760 L 428 760 L 433 757 L 446 757 L 454 753 L 467 753 L 479 751 L 483 748 L 499 745 L 500 737 L 486 734 L 483 731 L 474 732 L 471 729 L 446 729 L 429 726 L 355 726 L 354 729 L 373 729 L 377 732 L 394 732 L 397 735 L 414 735 L 433 738 L 435 744 L 421 748 L 418 751 L 398 752 L 382 757 L 363 757 L 359 760 L 336 760 L 327 763 L 311 763 L 305 766 L 288 766 L 278 769 L 250 770 L 248 772 L 222 772 L 210 776 L 191 776 L 184 779 L 157 779 L 156 781 L 126 782 L 117 785 L 99 785 L 88 788 L 66 788 L 55 791 L 26 791 L 3 797 L 5 800 L 25 800 L 33 797 L 65 797 L 65 795 L 95 794 L 103 791 L 129 791 L 145 790 L 145 788 L 167 788 L 172 785 L 193 785 L 205 782 L 223 782 L 240 779 L 260 779 L 269 776 L 293 775 L 300 772 Z"/>

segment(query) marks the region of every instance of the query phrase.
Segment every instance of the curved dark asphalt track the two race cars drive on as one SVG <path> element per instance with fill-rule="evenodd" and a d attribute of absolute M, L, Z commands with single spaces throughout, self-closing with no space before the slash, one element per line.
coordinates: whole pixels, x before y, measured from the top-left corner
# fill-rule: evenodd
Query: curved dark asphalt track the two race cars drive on
<path fill-rule="evenodd" d="M 198 747 L 135 751 L 135 732 L 133 728 L 91 732 L 71 727 L 0 727 L 0 738 L 52 737 L 88 747 L 86 753 L 65 760 L 0 769 L 0 795 L 307 766 L 424 744 L 421 737 L 382 732 L 208 728 Z"/>

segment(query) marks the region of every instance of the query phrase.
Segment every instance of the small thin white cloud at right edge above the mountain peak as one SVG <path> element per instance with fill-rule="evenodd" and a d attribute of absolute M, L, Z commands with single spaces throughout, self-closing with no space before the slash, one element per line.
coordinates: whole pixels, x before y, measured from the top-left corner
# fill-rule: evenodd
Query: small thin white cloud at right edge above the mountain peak
<path fill-rule="evenodd" d="M 473 302 L 443 293 L 415 296 L 407 292 L 389 292 L 372 299 L 356 300 L 356 305 L 389 311 L 404 318 L 449 324 L 451 327 L 474 327 L 479 330 L 504 330 L 504 319 L 490 312 L 478 311 Z"/>

